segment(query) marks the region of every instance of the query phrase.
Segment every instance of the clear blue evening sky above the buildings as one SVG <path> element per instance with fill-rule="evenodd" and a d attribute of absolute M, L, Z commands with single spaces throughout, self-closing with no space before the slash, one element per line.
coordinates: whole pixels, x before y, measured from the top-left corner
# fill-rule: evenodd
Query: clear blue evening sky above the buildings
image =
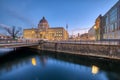
<path fill-rule="evenodd" d="M 0 25 L 37 28 L 44 16 L 50 27 L 89 29 L 118 0 L 0 0 Z"/>

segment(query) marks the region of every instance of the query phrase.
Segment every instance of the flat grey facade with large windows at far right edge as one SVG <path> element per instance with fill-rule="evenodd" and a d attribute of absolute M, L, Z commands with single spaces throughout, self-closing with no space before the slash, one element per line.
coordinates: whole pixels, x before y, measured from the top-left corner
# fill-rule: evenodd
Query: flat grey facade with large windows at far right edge
<path fill-rule="evenodd" d="M 103 16 L 103 39 L 120 39 L 120 0 Z"/>

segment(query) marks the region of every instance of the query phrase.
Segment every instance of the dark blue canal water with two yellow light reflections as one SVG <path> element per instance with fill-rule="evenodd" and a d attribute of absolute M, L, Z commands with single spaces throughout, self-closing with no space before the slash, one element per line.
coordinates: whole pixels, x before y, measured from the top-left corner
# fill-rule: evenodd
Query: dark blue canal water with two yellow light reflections
<path fill-rule="evenodd" d="M 120 61 L 27 48 L 0 49 L 0 80 L 120 80 Z"/>

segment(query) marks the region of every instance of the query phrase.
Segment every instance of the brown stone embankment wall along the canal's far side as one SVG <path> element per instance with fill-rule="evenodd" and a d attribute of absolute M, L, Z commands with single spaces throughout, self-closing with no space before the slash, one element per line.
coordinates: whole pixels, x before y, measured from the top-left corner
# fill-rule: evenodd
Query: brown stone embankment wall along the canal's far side
<path fill-rule="evenodd" d="M 109 59 L 120 59 L 120 45 L 44 42 L 37 47 L 40 50 L 64 52 Z"/>

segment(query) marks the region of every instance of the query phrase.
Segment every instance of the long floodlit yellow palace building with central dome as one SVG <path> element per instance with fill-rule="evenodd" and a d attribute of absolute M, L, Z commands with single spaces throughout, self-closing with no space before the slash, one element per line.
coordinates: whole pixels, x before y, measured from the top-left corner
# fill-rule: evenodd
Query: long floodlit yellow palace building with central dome
<path fill-rule="evenodd" d="M 49 27 L 48 21 L 43 17 L 38 28 L 24 29 L 25 39 L 67 40 L 68 32 L 63 27 Z"/>

